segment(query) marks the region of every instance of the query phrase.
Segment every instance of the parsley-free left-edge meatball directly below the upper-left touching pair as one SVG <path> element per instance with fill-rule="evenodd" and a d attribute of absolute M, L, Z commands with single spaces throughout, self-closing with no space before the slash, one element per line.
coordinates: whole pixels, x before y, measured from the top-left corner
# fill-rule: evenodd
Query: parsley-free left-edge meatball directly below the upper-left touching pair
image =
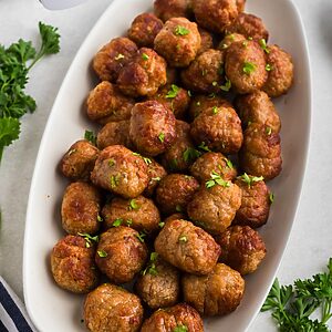
<path fill-rule="evenodd" d="M 100 83 L 87 97 L 87 116 L 100 124 L 129 120 L 134 101 L 110 82 Z"/>

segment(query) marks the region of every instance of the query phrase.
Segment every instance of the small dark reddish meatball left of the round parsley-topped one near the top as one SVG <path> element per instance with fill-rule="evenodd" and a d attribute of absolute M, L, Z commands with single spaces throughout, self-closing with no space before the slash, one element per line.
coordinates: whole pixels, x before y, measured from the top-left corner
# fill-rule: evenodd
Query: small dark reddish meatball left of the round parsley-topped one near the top
<path fill-rule="evenodd" d="M 135 18 L 128 30 L 128 38 L 138 46 L 153 48 L 154 40 L 163 29 L 163 21 L 152 13 L 145 12 Z"/>

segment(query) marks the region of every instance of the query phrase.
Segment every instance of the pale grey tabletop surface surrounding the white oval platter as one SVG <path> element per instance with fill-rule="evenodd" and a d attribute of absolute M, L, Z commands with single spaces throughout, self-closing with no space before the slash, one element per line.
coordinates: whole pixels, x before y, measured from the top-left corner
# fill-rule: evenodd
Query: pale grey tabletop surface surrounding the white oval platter
<path fill-rule="evenodd" d="M 23 38 L 38 44 L 37 27 L 40 20 L 59 27 L 62 35 L 60 54 L 37 64 L 30 74 L 27 91 L 35 98 L 38 110 L 35 114 L 22 118 L 20 139 L 6 149 L 0 166 L 0 274 L 21 299 L 25 208 L 39 143 L 75 52 L 110 2 L 90 0 L 64 11 L 49 11 L 38 0 L 0 1 L 0 43 L 8 45 Z M 332 256 L 332 1 L 293 2 L 299 8 L 309 41 L 313 110 L 301 200 L 278 271 L 282 283 L 311 277 L 324 269 Z M 249 331 L 277 330 L 269 314 L 260 313 Z"/>

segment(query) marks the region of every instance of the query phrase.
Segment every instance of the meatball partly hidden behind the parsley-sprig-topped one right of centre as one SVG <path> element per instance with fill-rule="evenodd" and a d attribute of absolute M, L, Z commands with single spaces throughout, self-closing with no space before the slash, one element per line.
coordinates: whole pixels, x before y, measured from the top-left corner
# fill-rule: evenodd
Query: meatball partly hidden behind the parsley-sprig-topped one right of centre
<path fill-rule="evenodd" d="M 222 154 L 212 152 L 200 156 L 190 167 L 190 173 L 203 184 L 211 178 L 211 174 L 219 175 L 225 180 L 232 180 L 237 176 L 232 163 Z"/>

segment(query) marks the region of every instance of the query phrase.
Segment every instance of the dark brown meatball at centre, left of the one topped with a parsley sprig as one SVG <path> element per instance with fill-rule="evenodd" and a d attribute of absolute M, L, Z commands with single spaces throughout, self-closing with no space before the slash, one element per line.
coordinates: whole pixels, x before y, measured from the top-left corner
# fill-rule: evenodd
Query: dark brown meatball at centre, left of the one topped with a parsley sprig
<path fill-rule="evenodd" d="M 156 190 L 156 201 L 165 215 L 185 211 L 199 188 L 195 177 L 184 174 L 166 175 Z"/>

